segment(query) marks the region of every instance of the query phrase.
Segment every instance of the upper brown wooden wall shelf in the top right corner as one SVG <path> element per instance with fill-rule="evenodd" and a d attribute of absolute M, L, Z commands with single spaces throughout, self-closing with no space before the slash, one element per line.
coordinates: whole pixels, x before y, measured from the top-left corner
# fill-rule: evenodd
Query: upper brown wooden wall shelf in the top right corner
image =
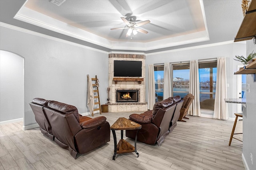
<path fill-rule="evenodd" d="M 245 41 L 256 36 L 256 0 L 251 0 L 248 11 L 244 16 L 244 20 L 240 25 L 238 33 L 236 34 L 234 42 Z"/>

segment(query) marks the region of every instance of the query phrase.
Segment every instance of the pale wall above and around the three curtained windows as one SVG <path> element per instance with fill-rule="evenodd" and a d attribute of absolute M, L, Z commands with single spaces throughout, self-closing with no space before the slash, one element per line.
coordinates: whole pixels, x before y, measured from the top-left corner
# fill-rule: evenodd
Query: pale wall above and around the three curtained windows
<path fill-rule="evenodd" d="M 158 63 L 175 63 L 190 60 L 212 59 L 217 57 L 226 57 L 228 98 L 236 98 L 236 72 L 237 65 L 241 65 L 238 61 L 234 61 L 235 55 L 246 55 L 245 43 L 226 42 L 223 44 L 212 44 L 212 46 L 199 46 L 193 49 L 176 49 L 173 51 L 166 51 L 164 53 L 152 53 L 146 55 L 146 77 L 148 77 L 148 64 Z M 146 92 L 148 90 L 148 82 L 146 78 Z M 147 97 L 146 97 L 147 99 Z M 229 116 L 234 117 L 236 112 L 236 105 L 228 104 Z"/>

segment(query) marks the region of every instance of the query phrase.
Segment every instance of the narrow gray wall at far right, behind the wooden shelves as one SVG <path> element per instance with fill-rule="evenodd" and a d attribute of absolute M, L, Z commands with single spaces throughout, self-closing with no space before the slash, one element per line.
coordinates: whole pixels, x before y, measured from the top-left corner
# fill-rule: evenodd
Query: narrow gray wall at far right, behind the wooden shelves
<path fill-rule="evenodd" d="M 246 41 L 246 53 L 256 52 L 256 45 L 252 40 Z M 246 56 L 247 56 L 246 55 Z M 250 92 L 246 92 L 246 109 L 243 113 L 243 157 L 250 170 L 256 170 L 256 82 L 252 74 L 246 76 L 246 84 L 250 84 Z M 250 159 L 252 153 L 253 164 Z"/>

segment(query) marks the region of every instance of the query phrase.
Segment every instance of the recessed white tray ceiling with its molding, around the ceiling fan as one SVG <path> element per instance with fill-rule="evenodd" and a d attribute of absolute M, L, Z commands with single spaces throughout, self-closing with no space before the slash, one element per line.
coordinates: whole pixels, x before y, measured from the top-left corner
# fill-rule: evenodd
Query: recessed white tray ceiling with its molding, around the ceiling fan
<path fill-rule="evenodd" d="M 151 22 L 130 39 L 120 17 Z M 209 40 L 202 0 L 27 0 L 15 16 L 110 49 L 152 50 Z"/>

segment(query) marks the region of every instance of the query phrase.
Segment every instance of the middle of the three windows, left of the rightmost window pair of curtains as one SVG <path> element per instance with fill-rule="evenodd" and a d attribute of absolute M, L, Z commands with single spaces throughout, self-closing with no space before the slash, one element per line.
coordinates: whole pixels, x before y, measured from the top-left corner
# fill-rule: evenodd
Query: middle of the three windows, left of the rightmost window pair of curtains
<path fill-rule="evenodd" d="M 172 65 L 172 96 L 184 98 L 189 92 L 189 63 Z"/>

